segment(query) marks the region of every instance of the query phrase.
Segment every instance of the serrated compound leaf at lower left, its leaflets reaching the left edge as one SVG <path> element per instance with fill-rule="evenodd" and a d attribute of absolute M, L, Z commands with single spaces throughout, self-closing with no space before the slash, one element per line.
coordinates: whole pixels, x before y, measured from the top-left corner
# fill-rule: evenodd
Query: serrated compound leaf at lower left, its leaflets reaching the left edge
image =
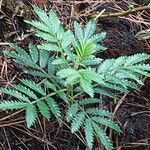
<path fill-rule="evenodd" d="M 12 96 L 11 101 L 0 103 L 0 109 L 25 109 L 27 127 L 31 127 L 35 123 L 38 112 L 47 119 L 50 119 L 51 113 L 58 120 L 61 118 L 60 108 L 51 97 L 59 91 L 46 93 L 40 85 L 33 81 L 27 79 L 20 81 L 22 84 L 12 85 L 10 89 L 0 88 L 1 92 Z"/>

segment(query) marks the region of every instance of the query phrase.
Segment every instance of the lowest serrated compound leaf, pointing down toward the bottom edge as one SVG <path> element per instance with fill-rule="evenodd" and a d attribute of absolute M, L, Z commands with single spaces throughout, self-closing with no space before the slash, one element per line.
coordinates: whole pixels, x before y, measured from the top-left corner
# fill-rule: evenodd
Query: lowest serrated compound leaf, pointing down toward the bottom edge
<path fill-rule="evenodd" d="M 112 144 L 101 125 L 108 126 L 117 132 L 120 132 L 121 130 L 117 124 L 109 120 L 112 116 L 110 112 L 104 109 L 88 107 L 89 104 L 96 103 L 100 103 L 100 100 L 88 98 L 76 101 L 76 103 L 72 104 L 69 108 L 66 118 L 71 122 L 72 133 L 78 131 L 81 126 L 84 127 L 84 133 L 89 149 L 92 149 L 93 147 L 94 135 L 101 140 L 106 149 L 112 149 Z"/>

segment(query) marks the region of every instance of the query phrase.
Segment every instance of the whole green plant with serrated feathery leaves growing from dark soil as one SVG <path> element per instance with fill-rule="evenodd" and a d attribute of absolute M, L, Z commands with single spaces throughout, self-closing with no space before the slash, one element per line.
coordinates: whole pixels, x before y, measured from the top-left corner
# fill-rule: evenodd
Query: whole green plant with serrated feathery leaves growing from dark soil
<path fill-rule="evenodd" d="M 95 95 L 114 99 L 118 92 L 139 90 L 137 83 L 143 85 L 141 75 L 150 76 L 150 65 L 141 62 L 150 55 L 97 58 L 96 53 L 106 49 L 100 44 L 106 33 L 95 34 L 96 21 L 89 21 L 84 28 L 75 21 L 73 33 L 63 28 L 53 10 L 45 13 L 36 6 L 33 9 L 39 20 L 26 22 L 35 27 L 35 35 L 43 44 L 29 44 L 29 51 L 14 44 L 14 50 L 5 51 L 5 55 L 26 66 L 24 72 L 32 75 L 34 81 L 21 79 L 20 84 L 0 88 L 12 96 L 12 100 L 0 102 L 0 109 L 25 109 L 27 127 L 35 123 L 38 112 L 47 119 L 53 114 L 58 121 L 69 122 L 72 133 L 82 129 L 89 149 L 93 148 L 95 137 L 111 150 L 103 126 L 117 132 L 120 128 L 111 120 L 112 114 L 99 107 L 103 100 Z M 66 104 L 65 117 L 60 101 Z"/>

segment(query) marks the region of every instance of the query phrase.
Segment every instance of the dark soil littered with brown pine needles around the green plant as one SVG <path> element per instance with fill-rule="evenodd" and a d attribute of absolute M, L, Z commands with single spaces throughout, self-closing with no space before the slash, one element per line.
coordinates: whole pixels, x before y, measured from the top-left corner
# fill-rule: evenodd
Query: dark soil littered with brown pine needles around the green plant
<path fill-rule="evenodd" d="M 69 2 L 50 1 L 17 1 L 3 0 L 0 10 L 0 86 L 5 87 L 21 77 L 22 67 L 14 64 L 3 56 L 3 50 L 9 50 L 7 42 L 16 42 L 26 48 L 29 42 L 38 43 L 39 39 L 31 35 L 30 27 L 23 22 L 24 19 L 34 18 L 31 3 L 36 2 L 40 7 L 55 9 L 62 22 L 72 28 L 72 21 L 86 20 L 89 16 L 80 17 L 77 14 L 90 7 L 90 2 L 76 1 L 73 5 Z M 117 3 L 118 2 L 118 3 Z M 131 1 L 129 1 L 130 3 Z M 100 3 L 100 2 L 99 2 Z M 116 12 L 116 6 L 127 8 L 124 1 L 104 3 L 98 5 L 94 11 L 104 8 Z M 73 7 L 72 7 L 73 6 Z M 94 7 L 93 3 L 91 6 Z M 72 14 L 72 11 L 76 13 Z M 94 11 L 92 13 L 94 13 Z M 68 17 L 69 16 L 69 17 Z M 150 53 L 149 41 L 135 38 L 135 34 L 145 28 L 126 18 L 107 18 L 98 20 L 98 31 L 106 31 L 107 37 L 104 45 L 107 50 L 98 54 L 103 58 L 115 58 L 122 55 L 131 55 L 140 52 Z M 146 26 L 147 27 L 147 26 Z M 113 140 L 115 150 L 150 150 L 150 79 L 145 79 L 145 86 L 141 91 L 131 91 L 121 102 L 116 111 L 116 118 L 122 127 L 120 135 L 109 134 Z M 9 98 L 9 97 L 8 97 Z M 116 104 L 106 104 L 113 112 Z M 85 146 L 75 136 L 71 135 L 68 128 L 59 125 L 55 120 L 50 122 L 41 118 L 37 121 L 36 129 L 27 129 L 22 118 L 22 112 L 0 112 L 0 150 L 85 150 Z M 14 114 L 14 115 L 13 115 Z M 7 116 L 7 117 L 6 117 Z M 111 133 L 111 132 L 108 132 Z M 96 143 L 95 150 L 101 150 Z"/>

